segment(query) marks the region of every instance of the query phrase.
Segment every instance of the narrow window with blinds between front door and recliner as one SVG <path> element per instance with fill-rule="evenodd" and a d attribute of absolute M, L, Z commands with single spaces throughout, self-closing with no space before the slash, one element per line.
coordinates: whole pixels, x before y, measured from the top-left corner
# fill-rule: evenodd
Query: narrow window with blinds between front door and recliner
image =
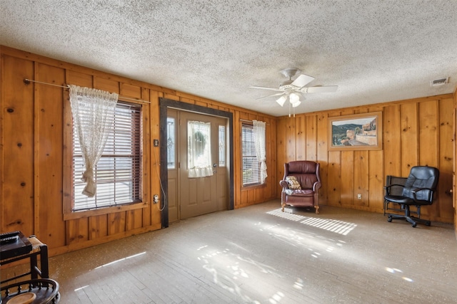
<path fill-rule="evenodd" d="M 256 157 L 253 125 L 242 123 L 243 187 L 261 184 L 260 165 Z"/>

